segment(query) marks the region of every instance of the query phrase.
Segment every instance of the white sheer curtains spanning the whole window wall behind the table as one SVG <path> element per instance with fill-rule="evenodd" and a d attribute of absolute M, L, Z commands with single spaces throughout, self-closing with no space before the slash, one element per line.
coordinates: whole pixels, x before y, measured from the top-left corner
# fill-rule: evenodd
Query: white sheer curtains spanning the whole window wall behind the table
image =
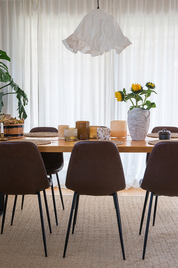
<path fill-rule="evenodd" d="M 156 125 L 178 125 L 177 2 L 101 0 L 100 8 L 113 14 L 133 45 L 119 55 L 110 51 L 91 58 L 71 53 L 61 40 L 97 8 L 97 0 L 0 0 L 0 49 L 10 56 L 9 72 L 29 98 L 25 131 L 75 126 L 76 120 L 106 126 L 110 120 L 127 120 L 129 103 L 115 102 L 114 91 L 148 80 L 158 92 L 152 96 L 157 108 L 151 110 L 150 131 Z M 17 116 L 16 97 L 5 97 L 3 112 Z M 59 173 L 62 187 L 69 156 L 64 153 Z M 121 154 L 127 188 L 139 187 L 145 157 Z"/>

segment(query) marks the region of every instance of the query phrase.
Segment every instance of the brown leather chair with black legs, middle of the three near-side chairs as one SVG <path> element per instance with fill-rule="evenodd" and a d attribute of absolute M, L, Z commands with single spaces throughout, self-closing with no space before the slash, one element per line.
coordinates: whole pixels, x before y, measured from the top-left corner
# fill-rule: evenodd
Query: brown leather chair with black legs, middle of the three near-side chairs
<path fill-rule="evenodd" d="M 75 207 L 72 234 L 74 232 L 80 195 L 112 195 L 115 201 L 122 255 L 125 260 L 117 191 L 125 189 L 126 184 L 117 146 L 109 141 L 82 141 L 76 143 L 69 160 L 65 186 L 73 190 L 74 195 L 63 258 L 65 258 L 67 250 L 72 215 Z"/>

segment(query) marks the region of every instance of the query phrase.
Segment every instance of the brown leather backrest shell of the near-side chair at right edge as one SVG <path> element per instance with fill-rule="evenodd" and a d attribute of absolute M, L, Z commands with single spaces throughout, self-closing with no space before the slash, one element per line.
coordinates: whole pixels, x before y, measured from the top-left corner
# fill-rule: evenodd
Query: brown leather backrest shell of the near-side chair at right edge
<path fill-rule="evenodd" d="M 150 154 L 141 188 L 165 196 L 178 196 L 178 142 L 159 142 Z"/>

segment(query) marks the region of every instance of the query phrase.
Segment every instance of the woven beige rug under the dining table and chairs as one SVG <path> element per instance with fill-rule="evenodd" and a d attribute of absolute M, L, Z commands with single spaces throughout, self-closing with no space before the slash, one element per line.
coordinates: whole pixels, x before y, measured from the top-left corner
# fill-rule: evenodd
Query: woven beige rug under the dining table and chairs
<path fill-rule="evenodd" d="M 48 257 L 45 258 L 37 196 L 25 196 L 21 210 L 18 196 L 13 226 L 10 226 L 14 196 L 9 196 L 3 234 L 0 235 L 1 267 L 178 267 L 178 198 L 158 197 L 155 226 L 150 220 L 145 260 L 142 260 L 145 220 L 138 235 L 144 197 L 118 196 L 126 260 L 122 259 L 117 218 L 113 197 L 81 196 L 74 234 L 69 236 L 66 257 L 63 259 L 65 236 L 71 210 L 72 196 L 56 196 L 59 226 L 55 224 L 52 196 L 47 196 L 52 234 L 49 233 L 44 198 Z M 1 224 L 2 218 L 0 218 Z"/>

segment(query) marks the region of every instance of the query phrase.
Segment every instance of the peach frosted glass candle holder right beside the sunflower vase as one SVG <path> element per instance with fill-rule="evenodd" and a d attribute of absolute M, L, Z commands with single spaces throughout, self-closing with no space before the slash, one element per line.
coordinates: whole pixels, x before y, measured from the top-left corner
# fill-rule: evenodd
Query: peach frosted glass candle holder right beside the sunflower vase
<path fill-rule="evenodd" d="M 111 121 L 111 138 L 126 138 L 127 137 L 127 121 L 116 120 Z"/>

